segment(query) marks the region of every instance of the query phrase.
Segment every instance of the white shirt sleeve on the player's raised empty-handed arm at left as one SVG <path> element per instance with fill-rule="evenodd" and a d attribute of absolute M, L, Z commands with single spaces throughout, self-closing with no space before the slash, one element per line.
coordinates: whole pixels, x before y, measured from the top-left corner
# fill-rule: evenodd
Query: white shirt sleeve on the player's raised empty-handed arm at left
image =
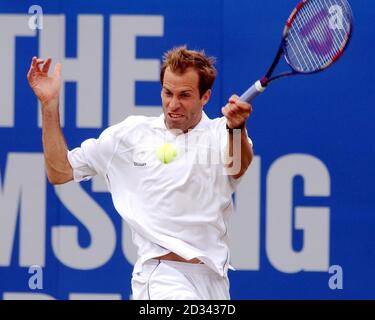
<path fill-rule="evenodd" d="M 74 181 L 86 181 L 97 174 L 105 177 L 118 145 L 120 129 L 126 127 L 129 118 L 104 130 L 98 139 L 87 139 L 80 147 L 68 151 Z"/>

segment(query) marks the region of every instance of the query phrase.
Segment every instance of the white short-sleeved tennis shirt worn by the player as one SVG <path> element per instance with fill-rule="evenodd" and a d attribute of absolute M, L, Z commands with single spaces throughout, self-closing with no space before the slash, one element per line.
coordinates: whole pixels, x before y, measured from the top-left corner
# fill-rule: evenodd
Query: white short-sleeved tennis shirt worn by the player
<path fill-rule="evenodd" d="M 249 142 L 252 144 L 250 138 Z M 172 144 L 169 164 L 156 148 Z M 174 252 L 199 258 L 221 276 L 229 268 L 227 222 L 238 180 L 226 174 L 226 119 L 209 119 L 185 134 L 168 130 L 164 115 L 130 116 L 68 152 L 74 180 L 103 175 L 114 206 L 138 247 L 134 272 L 150 258 Z"/>

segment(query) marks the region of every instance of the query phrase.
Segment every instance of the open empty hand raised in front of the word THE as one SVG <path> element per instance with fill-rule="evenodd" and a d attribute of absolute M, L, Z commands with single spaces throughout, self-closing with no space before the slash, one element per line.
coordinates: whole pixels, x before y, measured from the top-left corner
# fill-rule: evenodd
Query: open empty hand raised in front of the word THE
<path fill-rule="evenodd" d="M 48 76 L 48 70 L 52 59 L 47 60 L 33 57 L 27 80 L 35 95 L 43 106 L 59 101 L 61 87 L 61 64 L 57 63 L 51 76 Z"/>

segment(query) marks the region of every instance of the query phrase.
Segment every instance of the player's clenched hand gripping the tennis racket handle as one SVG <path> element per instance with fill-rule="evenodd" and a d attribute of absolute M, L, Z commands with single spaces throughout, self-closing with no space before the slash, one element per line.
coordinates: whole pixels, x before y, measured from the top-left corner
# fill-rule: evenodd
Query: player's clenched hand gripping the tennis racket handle
<path fill-rule="evenodd" d="M 221 112 L 227 118 L 227 125 L 231 129 L 245 126 L 245 122 L 252 111 L 251 104 L 240 101 L 239 96 L 236 95 L 231 96 L 227 105 L 221 108 Z"/>

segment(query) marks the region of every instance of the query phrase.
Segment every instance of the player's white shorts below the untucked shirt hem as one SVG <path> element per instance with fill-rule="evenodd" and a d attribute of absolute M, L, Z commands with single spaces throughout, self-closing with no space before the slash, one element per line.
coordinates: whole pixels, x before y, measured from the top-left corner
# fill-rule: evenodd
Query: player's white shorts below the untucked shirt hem
<path fill-rule="evenodd" d="M 205 264 L 151 259 L 133 272 L 134 300 L 229 300 L 229 281 Z"/>

